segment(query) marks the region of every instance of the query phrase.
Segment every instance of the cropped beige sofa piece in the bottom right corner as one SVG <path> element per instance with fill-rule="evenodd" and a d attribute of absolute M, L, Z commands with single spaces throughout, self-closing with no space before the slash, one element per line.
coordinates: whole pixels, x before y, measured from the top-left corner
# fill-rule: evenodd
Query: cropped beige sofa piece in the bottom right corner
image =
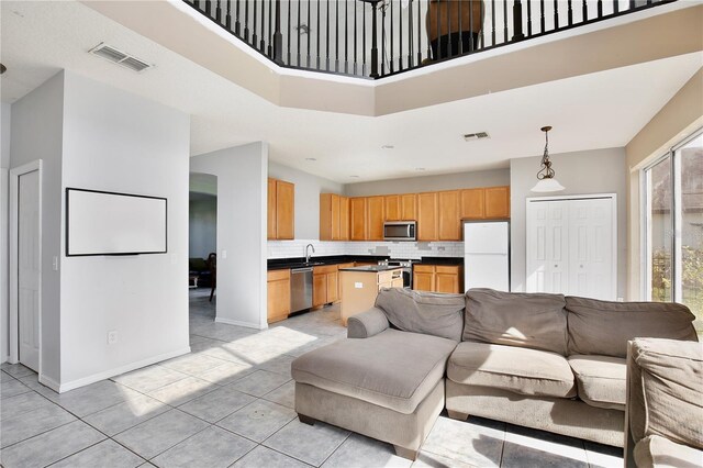
<path fill-rule="evenodd" d="M 703 345 L 631 342 L 626 412 L 626 448 L 638 467 L 703 466 Z"/>

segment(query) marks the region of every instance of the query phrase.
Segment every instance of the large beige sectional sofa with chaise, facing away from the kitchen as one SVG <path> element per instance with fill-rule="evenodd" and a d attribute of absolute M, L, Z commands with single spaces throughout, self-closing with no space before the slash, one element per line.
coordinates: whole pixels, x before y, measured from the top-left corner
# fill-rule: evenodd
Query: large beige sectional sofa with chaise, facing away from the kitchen
<path fill-rule="evenodd" d="M 622 447 L 627 341 L 695 341 L 692 321 L 680 304 L 383 290 L 347 339 L 293 361 L 295 411 L 411 459 L 444 408 Z"/>

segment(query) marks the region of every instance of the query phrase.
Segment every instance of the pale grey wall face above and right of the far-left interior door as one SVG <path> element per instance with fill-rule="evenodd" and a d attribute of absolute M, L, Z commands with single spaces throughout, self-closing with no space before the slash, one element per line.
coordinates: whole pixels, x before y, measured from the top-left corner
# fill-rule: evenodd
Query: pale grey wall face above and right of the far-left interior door
<path fill-rule="evenodd" d="M 60 382 L 60 275 L 52 258 L 62 252 L 62 147 L 64 74 L 12 104 L 10 168 L 43 160 L 42 172 L 42 349 L 40 380 Z"/>

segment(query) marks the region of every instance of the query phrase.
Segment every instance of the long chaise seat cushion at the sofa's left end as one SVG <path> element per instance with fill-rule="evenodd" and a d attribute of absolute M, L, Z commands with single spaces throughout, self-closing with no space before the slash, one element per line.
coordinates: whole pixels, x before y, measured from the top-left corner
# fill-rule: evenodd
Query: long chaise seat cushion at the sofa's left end
<path fill-rule="evenodd" d="M 456 342 L 386 330 L 362 339 L 341 339 L 291 365 L 297 382 L 412 413 L 444 378 Z"/>

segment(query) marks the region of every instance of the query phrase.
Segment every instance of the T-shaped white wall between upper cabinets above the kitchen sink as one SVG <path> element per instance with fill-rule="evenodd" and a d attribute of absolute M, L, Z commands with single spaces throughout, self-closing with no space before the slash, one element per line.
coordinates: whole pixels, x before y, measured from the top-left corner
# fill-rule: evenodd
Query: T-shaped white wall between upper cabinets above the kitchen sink
<path fill-rule="evenodd" d="M 268 177 L 295 185 L 295 238 L 320 238 L 320 193 L 344 193 L 344 186 L 269 161 Z"/>

